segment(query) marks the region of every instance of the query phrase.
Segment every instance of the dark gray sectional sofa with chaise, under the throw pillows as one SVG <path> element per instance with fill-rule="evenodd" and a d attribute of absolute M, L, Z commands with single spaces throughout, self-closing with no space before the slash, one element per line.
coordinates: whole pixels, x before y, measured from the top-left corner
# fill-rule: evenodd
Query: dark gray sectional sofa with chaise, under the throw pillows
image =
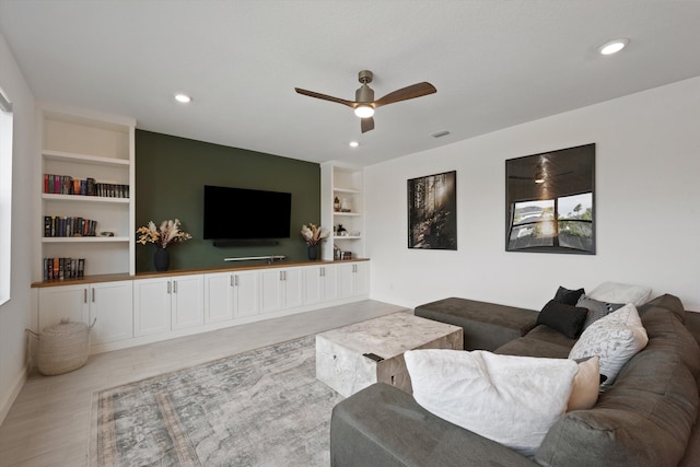
<path fill-rule="evenodd" d="M 481 348 L 498 345 L 487 349 L 495 353 L 567 358 L 576 341 L 536 326 L 534 311 L 462 299 L 419 308 L 416 314 L 462 325 L 465 342 L 478 335 Z M 334 408 L 331 466 L 700 465 L 700 348 L 686 326 L 698 323 L 689 316 L 698 314 L 668 294 L 638 311 L 646 347 L 592 409 L 564 413 L 534 458 L 434 416 L 393 386 L 374 384 Z"/>

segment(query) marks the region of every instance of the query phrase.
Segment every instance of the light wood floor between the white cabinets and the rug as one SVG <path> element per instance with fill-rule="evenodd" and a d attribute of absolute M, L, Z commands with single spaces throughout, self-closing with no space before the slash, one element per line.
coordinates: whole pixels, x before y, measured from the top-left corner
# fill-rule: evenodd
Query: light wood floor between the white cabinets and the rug
<path fill-rule="evenodd" d="M 368 300 L 101 353 L 58 376 L 35 372 L 0 427 L 0 466 L 88 466 L 97 390 L 404 310 Z"/>

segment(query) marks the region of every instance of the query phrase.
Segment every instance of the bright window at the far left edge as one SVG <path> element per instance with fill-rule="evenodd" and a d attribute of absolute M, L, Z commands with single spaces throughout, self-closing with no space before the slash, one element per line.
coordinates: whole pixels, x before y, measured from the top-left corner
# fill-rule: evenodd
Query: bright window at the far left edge
<path fill-rule="evenodd" d="M 0 305 L 10 300 L 12 240 L 12 103 L 0 89 Z"/>

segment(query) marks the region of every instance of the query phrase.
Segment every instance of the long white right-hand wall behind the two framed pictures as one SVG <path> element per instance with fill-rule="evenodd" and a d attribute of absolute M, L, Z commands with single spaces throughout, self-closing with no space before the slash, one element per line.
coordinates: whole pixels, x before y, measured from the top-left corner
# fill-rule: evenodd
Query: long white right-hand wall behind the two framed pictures
<path fill-rule="evenodd" d="M 559 285 L 652 287 L 700 311 L 700 78 L 365 168 L 372 297 L 540 310 Z M 596 143 L 597 255 L 506 253 L 505 160 Z M 407 246 L 409 178 L 457 171 L 458 250 Z"/>

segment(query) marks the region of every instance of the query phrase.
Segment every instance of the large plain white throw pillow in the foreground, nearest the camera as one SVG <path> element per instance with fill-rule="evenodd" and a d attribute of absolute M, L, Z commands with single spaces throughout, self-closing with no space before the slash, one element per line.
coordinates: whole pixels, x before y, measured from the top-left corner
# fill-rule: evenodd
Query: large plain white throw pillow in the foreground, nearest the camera
<path fill-rule="evenodd" d="M 564 413 L 579 371 L 573 360 L 482 350 L 411 350 L 404 357 L 413 398 L 425 410 L 526 456 Z"/>

